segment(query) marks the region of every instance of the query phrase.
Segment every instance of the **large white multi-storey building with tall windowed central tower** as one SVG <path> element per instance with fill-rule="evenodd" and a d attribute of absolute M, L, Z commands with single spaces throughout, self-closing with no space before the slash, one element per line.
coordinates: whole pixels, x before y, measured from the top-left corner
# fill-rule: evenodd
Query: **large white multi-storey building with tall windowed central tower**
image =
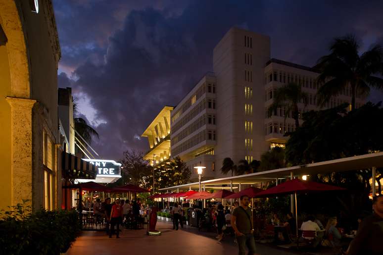
<path fill-rule="evenodd" d="M 213 50 L 214 73 L 207 73 L 171 111 L 171 156 L 180 156 L 192 169 L 206 166 L 203 179 L 222 177 L 225 157 L 260 159 L 274 146 L 284 147 L 283 134 L 295 129 L 284 110 L 267 116 L 278 87 L 294 82 L 309 95 L 301 112 L 319 109 L 315 94 L 318 73 L 310 67 L 270 57 L 270 37 L 231 28 Z M 325 108 L 351 102 L 350 89 Z M 359 107 L 364 100 L 356 99 Z"/>

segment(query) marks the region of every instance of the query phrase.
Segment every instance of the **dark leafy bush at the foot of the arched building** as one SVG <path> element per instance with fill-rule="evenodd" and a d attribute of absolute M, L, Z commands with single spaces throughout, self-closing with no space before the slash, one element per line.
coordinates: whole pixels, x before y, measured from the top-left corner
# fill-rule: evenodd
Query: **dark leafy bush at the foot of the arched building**
<path fill-rule="evenodd" d="M 4 254 L 65 253 L 80 233 L 75 210 L 40 210 L 31 214 L 22 207 L 18 204 L 0 214 L 0 247 Z"/>

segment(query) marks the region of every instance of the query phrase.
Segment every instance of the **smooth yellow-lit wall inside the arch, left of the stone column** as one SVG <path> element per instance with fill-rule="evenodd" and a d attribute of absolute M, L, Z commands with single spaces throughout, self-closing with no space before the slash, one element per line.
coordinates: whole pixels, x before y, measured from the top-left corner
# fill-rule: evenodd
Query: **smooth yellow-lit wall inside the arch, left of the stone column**
<path fill-rule="evenodd" d="M 11 94 L 10 89 L 8 54 L 6 47 L 0 46 L 0 209 L 6 209 L 6 206 L 11 204 L 11 115 L 10 105 L 5 100 L 5 97 Z"/>

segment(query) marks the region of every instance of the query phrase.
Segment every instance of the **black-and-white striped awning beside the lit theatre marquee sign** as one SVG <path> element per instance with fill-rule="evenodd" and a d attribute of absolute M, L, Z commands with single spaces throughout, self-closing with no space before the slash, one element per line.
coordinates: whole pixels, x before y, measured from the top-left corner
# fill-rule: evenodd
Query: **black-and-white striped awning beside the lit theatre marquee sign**
<path fill-rule="evenodd" d="M 62 153 L 62 173 L 64 178 L 96 179 L 98 167 L 70 153 Z"/>

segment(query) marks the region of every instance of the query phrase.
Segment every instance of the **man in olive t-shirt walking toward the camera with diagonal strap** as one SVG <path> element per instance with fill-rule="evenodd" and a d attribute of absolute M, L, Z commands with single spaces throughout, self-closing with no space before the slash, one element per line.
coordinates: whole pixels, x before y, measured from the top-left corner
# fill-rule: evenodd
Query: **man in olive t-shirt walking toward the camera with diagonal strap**
<path fill-rule="evenodd" d="M 239 255 L 245 255 L 246 246 L 248 255 L 255 254 L 254 229 L 251 221 L 252 213 L 249 208 L 249 197 L 240 197 L 240 206 L 233 210 L 231 225 L 236 233 Z"/>

